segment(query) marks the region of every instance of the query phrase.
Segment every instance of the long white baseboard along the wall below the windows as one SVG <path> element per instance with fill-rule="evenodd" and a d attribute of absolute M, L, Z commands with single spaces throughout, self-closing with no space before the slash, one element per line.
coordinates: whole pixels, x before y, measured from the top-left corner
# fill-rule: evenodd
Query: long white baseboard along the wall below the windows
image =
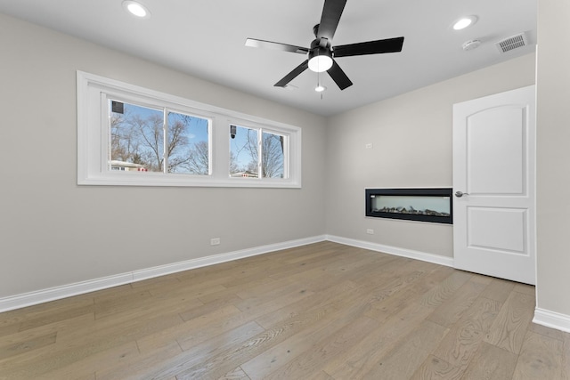
<path fill-rule="evenodd" d="M 226 254 L 211 255 L 179 263 L 159 265 L 139 271 L 120 273 L 101 279 L 90 279 L 87 281 L 76 282 L 74 284 L 63 285 L 61 287 L 50 287 L 47 289 L 24 293 L 21 295 L 11 295 L 8 297 L 0 298 L 0 312 L 20 309 L 22 307 L 31 306 L 37 303 L 46 303 L 49 301 L 59 300 L 61 298 L 66 298 L 72 295 L 82 295 L 109 287 L 118 287 L 119 285 L 125 285 L 136 281 L 142 281 L 143 279 L 151 279 L 154 277 L 164 276 L 178 271 L 188 271 L 216 263 L 225 263 L 232 260 L 238 260 L 244 257 L 263 255 L 269 252 L 279 251 L 281 249 L 305 246 L 307 244 L 317 243 L 323 240 L 326 240 L 325 235 L 314 236 L 305 239 L 289 240 L 283 243 L 241 249 L 240 251 L 229 252 Z"/>

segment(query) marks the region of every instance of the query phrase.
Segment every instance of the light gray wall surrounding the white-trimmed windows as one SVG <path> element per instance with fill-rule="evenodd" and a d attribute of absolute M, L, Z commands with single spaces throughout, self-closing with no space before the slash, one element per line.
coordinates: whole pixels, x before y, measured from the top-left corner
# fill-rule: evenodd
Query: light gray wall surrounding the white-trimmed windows
<path fill-rule="evenodd" d="M 324 117 L 2 14 L 0 46 L 0 297 L 324 234 Z M 77 69 L 301 127 L 303 189 L 77 186 Z"/>

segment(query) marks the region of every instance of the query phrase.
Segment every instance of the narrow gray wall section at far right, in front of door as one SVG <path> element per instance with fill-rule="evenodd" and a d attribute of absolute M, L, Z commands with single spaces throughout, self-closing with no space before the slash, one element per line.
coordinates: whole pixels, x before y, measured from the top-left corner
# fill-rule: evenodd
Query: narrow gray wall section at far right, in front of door
<path fill-rule="evenodd" d="M 539 0 L 537 306 L 570 318 L 570 3 Z M 567 321 L 570 328 L 570 320 Z"/>

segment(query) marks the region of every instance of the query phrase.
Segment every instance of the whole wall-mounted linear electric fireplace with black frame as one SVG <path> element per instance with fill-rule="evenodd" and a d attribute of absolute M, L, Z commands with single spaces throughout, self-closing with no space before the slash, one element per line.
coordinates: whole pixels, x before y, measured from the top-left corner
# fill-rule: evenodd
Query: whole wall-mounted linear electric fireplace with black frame
<path fill-rule="evenodd" d="M 452 224 L 452 189 L 366 189 L 366 216 Z"/>

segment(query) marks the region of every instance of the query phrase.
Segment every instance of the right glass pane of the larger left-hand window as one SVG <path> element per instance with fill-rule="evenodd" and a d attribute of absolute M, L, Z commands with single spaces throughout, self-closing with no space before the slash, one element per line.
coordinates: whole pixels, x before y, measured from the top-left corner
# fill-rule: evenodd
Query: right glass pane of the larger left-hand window
<path fill-rule="evenodd" d="M 210 121 L 168 112 L 168 173 L 209 174 Z"/>

